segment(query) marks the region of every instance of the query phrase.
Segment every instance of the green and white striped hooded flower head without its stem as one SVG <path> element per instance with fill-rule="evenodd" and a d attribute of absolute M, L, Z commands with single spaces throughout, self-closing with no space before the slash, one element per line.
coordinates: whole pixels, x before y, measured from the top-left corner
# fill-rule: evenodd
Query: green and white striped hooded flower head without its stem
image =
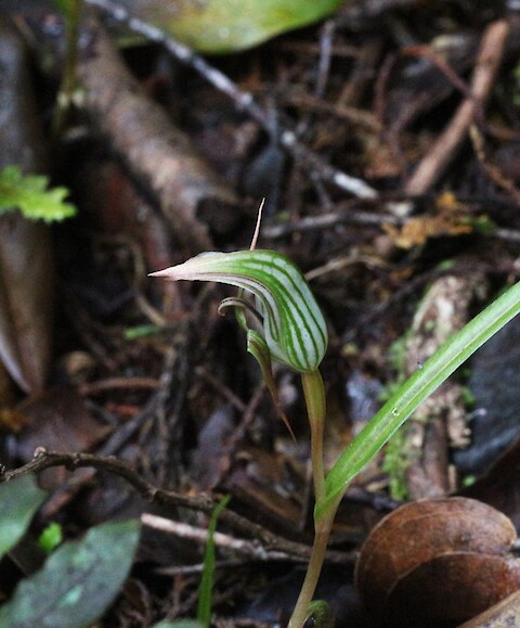
<path fill-rule="evenodd" d="M 263 339 L 273 360 L 300 373 L 315 371 L 323 360 L 328 335 L 322 311 L 300 270 L 280 253 L 261 249 L 203 253 L 184 264 L 154 272 L 153 277 L 216 281 L 249 292 L 255 296 Z M 237 297 L 223 305 L 236 306 L 239 302 Z M 258 351 L 249 346 L 259 342 L 257 336 L 258 332 L 248 336 L 248 349 L 259 359 Z"/>

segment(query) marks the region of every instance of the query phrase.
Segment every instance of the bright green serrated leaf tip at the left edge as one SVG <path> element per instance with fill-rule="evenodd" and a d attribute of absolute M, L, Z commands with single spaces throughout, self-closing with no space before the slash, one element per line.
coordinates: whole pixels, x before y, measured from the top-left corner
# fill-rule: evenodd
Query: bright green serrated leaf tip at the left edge
<path fill-rule="evenodd" d="M 0 170 L 0 214 L 20 209 L 26 218 L 46 222 L 74 216 L 76 208 L 64 201 L 68 190 L 48 185 L 48 177 L 23 175 L 18 166 L 6 166 Z"/>

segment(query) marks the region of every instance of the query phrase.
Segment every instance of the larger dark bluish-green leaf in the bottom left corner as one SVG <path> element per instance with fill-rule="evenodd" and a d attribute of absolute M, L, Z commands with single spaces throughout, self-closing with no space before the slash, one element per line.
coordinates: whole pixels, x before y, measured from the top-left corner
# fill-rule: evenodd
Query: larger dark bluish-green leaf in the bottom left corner
<path fill-rule="evenodd" d="M 68 542 L 43 568 L 23 580 L 0 608 L 9 628 L 82 628 L 95 621 L 117 595 L 139 542 L 139 522 L 92 528 L 83 540 Z"/>

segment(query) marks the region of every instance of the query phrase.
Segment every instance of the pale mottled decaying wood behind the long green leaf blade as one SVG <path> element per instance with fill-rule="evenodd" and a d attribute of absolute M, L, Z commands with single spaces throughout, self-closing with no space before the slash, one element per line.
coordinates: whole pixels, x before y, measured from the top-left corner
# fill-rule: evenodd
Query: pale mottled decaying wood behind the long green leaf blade
<path fill-rule="evenodd" d="M 412 375 L 469 319 L 468 309 L 482 286 L 479 274 L 446 275 L 434 281 L 420 304 L 406 343 L 406 374 Z M 448 445 L 469 441 L 460 384 L 448 381 L 433 393 L 406 425 L 410 466 L 406 486 L 412 499 L 446 495 L 450 489 Z"/>

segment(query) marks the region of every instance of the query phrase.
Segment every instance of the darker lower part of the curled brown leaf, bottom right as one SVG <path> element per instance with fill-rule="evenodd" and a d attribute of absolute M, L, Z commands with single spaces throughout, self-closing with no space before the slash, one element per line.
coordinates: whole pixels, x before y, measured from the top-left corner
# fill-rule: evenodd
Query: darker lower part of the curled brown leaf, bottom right
<path fill-rule="evenodd" d="M 399 578 L 386 613 L 400 628 L 461 621 L 520 588 L 520 561 L 474 552 L 453 552 Z"/>

